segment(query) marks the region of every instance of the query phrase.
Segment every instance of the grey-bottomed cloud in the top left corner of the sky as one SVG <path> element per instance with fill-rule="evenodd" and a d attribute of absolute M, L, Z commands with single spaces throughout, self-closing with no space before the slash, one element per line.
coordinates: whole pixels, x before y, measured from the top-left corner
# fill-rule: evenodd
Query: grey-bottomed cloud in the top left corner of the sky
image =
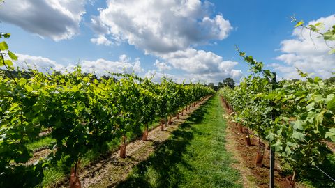
<path fill-rule="evenodd" d="M 86 0 L 10 0 L 1 4 L 1 21 L 59 41 L 79 33 Z"/>

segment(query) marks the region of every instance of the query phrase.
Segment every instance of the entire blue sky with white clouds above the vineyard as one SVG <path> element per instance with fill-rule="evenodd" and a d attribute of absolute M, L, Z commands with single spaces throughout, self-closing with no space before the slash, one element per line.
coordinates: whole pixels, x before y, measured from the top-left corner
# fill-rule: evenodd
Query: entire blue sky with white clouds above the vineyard
<path fill-rule="evenodd" d="M 0 31 L 16 66 L 40 71 L 135 72 L 141 77 L 217 84 L 250 74 L 235 45 L 278 79 L 332 77 L 335 54 L 317 33 L 295 28 L 335 24 L 335 1 L 5 0 Z"/>

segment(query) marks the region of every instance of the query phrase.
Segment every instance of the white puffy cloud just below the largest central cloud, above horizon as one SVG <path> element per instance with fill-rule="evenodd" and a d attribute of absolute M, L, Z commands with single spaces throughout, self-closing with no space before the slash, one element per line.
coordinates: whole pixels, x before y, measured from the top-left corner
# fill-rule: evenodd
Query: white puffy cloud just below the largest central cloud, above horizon
<path fill-rule="evenodd" d="M 235 81 L 239 81 L 242 77 L 241 70 L 235 70 L 234 66 L 237 62 L 223 61 L 221 56 L 213 52 L 205 52 L 203 50 L 186 49 L 185 51 L 177 51 L 166 54 L 162 58 L 168 63 L 156 61 L 155 65 L 159 72 L 149 70 L 146 75 L 154 75 L 155 80 L 159 81 L 164 75 L 172 78 L 179 83 L 183 81 L 218 83 L 227 77 L 232 77 Z M 163 74 L 160 70 L 167 65 L 171 65 L 175 69 L 180 69 L 184 74 L 179 75 Z M 163 68 L 162 68 L 163 67 Z"/>

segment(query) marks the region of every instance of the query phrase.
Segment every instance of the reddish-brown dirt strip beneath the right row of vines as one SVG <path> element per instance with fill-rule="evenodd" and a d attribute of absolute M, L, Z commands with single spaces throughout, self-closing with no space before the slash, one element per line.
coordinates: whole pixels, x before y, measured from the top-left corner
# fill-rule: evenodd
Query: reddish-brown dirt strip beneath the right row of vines
<path fill-rule="evenodd" d="M 222 99 L 221 102 L 223 102 Z M 225 110 L 227 111 L 227 109 Z M 223 114 L 223 116 L 228 118 L 226 114 Z M 262 143 L 265 143 L 265 155 L 262 167 L 258 167 L 255 164 L 258 152 L 258 137 L 253 136 L 251 146 L 246 146 L 244 134 L 240 133 L 239 127 L 237 127 L 235 123 L 228 121 L 226 139 L 227 150 L 232 152 L 238 161 L 237 164 L 234 164 L 234 167 L 241 171 L 241 175 L 244 178 L 244 187 L 269 187 L 270 153 L 269 150 L 267 150 L 267 142 L 262 141 Z M 281 176 L 280 173 L 281 167 L 278 162 L 276 162 L 275 187 L 287 187 L 285 177 Z"/>

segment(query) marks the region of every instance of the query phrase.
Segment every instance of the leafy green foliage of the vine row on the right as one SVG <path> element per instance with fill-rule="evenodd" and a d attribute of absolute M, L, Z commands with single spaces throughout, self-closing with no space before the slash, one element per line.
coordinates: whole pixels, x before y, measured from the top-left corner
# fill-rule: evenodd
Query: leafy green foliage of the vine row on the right
<path fill-rule="evenodd" d="M 269 140 L 283 162 L 295 171 L 324 162 L 329 149 L 323 141 L 335 141 L 334 84 L 327 85 L 301 71 L 306 81 L 274 83 L 275 75 L 263 70 L 262 62 L 244 52 L 239 54 L 251 65 L 253 74 L 240 86 L 220 91 L 236 112 L 233 120 Z"/>

